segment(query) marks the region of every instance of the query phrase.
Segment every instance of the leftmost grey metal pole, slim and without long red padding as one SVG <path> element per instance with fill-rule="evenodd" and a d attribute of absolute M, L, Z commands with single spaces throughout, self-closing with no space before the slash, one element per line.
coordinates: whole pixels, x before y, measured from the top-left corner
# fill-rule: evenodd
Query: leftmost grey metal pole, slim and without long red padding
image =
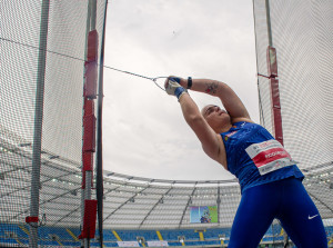
<path fill-rule="evenodd" d="M 39 34 L 39 54 L 37 70 L 37 89 L 34 106 L 34 131 L 32 145 L 32 169 L 31 169 L 31 199 L 30 216 L 39 216 L 39 188 L 40 188 L 40 167 L 41 167 L 41 138 L 43 120 L 43 101 L 44 101 L 44 80 L 47 63 L 47 41 L 49 23 L 50 1 L 43 0 L 41 7 L 41 21 Z M 30 222 L 29 247 L 38 247 L 38 221 Z"/>

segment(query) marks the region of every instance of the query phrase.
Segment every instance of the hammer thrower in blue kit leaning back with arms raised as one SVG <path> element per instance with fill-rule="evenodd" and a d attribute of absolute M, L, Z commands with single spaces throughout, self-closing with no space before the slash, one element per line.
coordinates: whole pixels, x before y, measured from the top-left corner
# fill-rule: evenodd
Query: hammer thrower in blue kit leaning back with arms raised
<path fill-rule="evenodd" d="M 296 247 L 327 247 L 321 216 L 302 185 L 304 176 L 296 162 L 266 129 L 251 120 L 226 83 L 169 77 L 164 87 L 178 98 L 204 152 L 239 179 L 242 198 L 229 248 L 256 248 L 274 218 Z M 186 89 L 220 98 L 225 110 L 209 105 L 200 111 Z"/>

